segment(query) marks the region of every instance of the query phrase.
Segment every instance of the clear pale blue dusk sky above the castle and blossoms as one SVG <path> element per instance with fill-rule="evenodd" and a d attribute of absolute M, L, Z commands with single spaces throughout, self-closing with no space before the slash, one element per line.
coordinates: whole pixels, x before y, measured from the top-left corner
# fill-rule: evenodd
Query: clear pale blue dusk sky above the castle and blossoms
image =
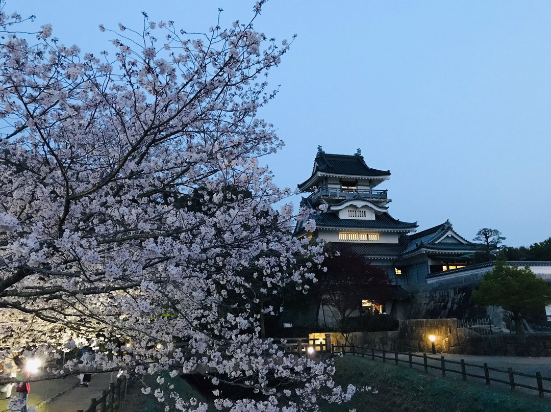
<path fill-rule="evenodd" d="M 110 49 L 98 24 L 174 20 L 205 32 L 249 21 L 249 0 L 8 0 L 83 51 Z M 551 236 L 551 2 L 270 0 L 255 28 L 297 34 L 269 77 L 261 113 L 286 145 L 266 158 L 281 187 L 326 153 L 361 148 L 390 169 L 389 213 L 419 230 L 449 219 L 471 240 L 498 229 L 506 245 Z M 293 202 L 298 205 L 300 197 Z"/>

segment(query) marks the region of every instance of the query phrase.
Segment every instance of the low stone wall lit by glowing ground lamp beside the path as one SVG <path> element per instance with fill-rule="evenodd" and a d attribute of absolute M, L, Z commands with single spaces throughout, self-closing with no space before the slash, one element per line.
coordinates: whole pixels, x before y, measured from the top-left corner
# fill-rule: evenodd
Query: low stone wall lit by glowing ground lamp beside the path
<path fill-rule="evenodd" d="M 551 334 L 480 335 L 471 329 L 457 328 L 457 319 L 413 319 L 400 321 L 398 330 L 390 332 L 353 332 L 347 335 L 347 345 L 364 345 L 386 351 L 430 353 L 429 335 L 435 335 L 437 353 L 500 356 L 551 356 Z M 310 338 L 325 341 L 325 334 Z M 345 343 L 341 333 L 331 333 L 331 343 Z"/>

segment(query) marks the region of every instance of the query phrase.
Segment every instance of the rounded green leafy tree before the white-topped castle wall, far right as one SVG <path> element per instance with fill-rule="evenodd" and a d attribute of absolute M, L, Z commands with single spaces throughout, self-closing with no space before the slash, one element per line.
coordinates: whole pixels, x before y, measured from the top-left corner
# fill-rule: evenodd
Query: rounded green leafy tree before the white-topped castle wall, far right
<path fill-rule="evenodd" d="M 478 305 L 501 306 L 511 311 L 516 333 L 524 333 L 522 310 L 543 309 L 551 303 L 551 285 L 537 278 L 530 268 L 507 266 L 496 261 L 494 270 L 484 275 L 480 288 L 473 291 L 472 300 Z"/>

